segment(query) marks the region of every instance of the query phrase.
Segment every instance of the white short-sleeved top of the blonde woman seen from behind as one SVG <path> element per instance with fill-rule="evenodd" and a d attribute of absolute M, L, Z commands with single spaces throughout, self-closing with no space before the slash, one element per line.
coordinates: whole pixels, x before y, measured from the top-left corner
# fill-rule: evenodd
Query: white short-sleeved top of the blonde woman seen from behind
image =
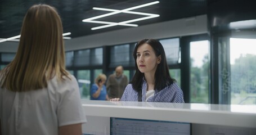
<path fill-rule="evenodd" d="M 0 87 L 2 134 L 56 135 L 62 125 L 87 122 L 77 80 L 70 78 L 60 82 L 55 77 L 47 88 L 28 92 Z"/>

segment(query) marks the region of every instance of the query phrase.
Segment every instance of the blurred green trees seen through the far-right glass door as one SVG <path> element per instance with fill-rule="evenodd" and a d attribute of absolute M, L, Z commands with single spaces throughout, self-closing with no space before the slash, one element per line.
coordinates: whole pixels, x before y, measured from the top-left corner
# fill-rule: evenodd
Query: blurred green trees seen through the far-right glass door
<path fill-rule="evenodd" d="M 256 56 L 245 55 L 231 65 L 231 104 L 256 104 Z"/>

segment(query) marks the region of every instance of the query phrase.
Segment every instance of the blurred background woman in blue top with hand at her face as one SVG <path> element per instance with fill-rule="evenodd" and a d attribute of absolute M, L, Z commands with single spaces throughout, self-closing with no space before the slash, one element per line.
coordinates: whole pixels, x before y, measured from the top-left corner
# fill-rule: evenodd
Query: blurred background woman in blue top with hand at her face
<path fill-rule="evenodd" d="M 106 86 L 104 85 L 106 79 L 105 74 L 99 74 L 95 79 L 95 84 L 92 84 L 91 88 L 91 100 L 109 100 Z"/>

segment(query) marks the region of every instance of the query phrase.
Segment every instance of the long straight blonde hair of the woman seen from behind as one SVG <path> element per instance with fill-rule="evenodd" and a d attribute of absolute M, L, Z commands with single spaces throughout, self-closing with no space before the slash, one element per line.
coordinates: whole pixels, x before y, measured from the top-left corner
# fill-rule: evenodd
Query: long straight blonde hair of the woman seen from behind
<path fill-rule="evenodd" d="M 30 7 L 23 20 L 16 56 L 2 70 L 1 87 L 31 91 L 46 88 L 47 80 L 55 76 L 58 80 L 68 77 L 62 33 L 61 19 L 54 7 Z"/>

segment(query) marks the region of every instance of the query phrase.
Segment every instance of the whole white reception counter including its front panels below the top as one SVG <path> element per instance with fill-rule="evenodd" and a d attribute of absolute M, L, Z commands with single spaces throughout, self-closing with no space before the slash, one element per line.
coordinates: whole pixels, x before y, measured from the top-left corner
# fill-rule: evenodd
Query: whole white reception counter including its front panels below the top
<path fill-rule="evenodd" d="M 84 134 L 110 134 L 110 118 L 191 123 L 191 134 L 256 134 L 255 105 L 82 100 L 82 106 Z"/>

